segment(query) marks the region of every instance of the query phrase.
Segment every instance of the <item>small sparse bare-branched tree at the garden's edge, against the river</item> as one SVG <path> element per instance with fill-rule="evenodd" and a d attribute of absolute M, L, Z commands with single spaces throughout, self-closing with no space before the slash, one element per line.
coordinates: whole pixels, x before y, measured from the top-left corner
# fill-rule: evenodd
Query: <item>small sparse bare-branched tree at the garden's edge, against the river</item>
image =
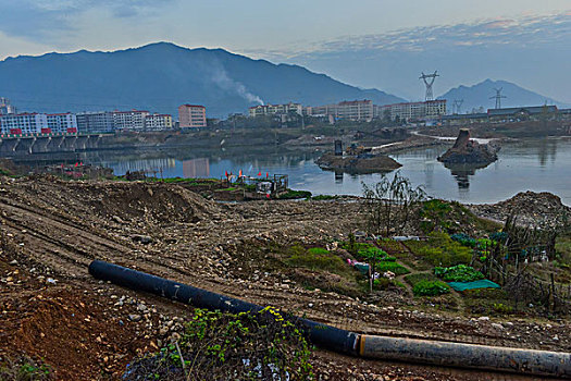
<path fill-rule="evenodd" d="M 386 175 L 373 186 L 363 185 L 365 230 L 370 234 L 388 236 L 394 230 L 402 234 L 417 207 L 426 199 L 421 186 L 413 187 L 410 180 L 396 172 L 393 180 Z"/>

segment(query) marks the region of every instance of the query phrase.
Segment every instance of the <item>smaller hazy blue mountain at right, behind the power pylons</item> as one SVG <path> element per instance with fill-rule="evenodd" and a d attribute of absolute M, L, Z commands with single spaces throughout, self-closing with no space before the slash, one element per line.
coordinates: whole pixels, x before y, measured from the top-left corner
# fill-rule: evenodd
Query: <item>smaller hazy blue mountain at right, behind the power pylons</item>
<path fill-rule="evenodd" d="M 449 112 L 452 112 L 452 103 L 455 100 L 463 99 L 460 113 L 471 112 L 473 109 L 477 110 L 481 107 L 484 110 L 493 109 L 496 106 L 495 89 L 501 88 L 501 95 L 506 98 L 501 99 L 501 107 L 523 107 L 523 106 L 543 106 L 556 105 L 559 108 L 568 108 L 569 105 L 558 102 L 549 97 L 524 89 L 516 84 L 506 81 L 486 79 L 473 86 L 455 87 L 438 99 L 446 99 Z"/>

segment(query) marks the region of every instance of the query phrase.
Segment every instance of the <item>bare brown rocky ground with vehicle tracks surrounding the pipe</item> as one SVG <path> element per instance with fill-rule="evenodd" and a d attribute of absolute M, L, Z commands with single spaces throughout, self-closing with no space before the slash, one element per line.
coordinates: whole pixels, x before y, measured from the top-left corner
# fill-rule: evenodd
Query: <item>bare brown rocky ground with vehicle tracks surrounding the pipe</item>
<path fill-rule="evenodd" d="M 363 333 L 570 351 L 566 320 L 430 312 L 395 294 L 308 290 L 245 247 L 332 243 L 360 228 L 355 201 L 221 205 L 172 184 L 0 180 L 0 356 L 42 358 L 61 380 L 119 379 L 176 340 L 187 306 L 94 280 L 102 259 Z M 489 380 L 512 376 L 349 358 L 319 349 L 321 380 Z"/>

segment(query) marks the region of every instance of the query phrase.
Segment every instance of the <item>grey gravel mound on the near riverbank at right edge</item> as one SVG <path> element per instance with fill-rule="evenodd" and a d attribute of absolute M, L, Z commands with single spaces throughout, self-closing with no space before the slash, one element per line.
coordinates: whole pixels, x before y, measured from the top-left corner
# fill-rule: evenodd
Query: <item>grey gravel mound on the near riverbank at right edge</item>
<path fill-rule="evenodd" d="M 470 209 L 480 217 L 497 221 L 506 221 L 510 214 L 514 214 L 519 225 L 543 229 L 561 228 L 566 219 L 571 219 L 571 208 L 548 192 L 521 192 L 505 201 L 473 205 Z"/>

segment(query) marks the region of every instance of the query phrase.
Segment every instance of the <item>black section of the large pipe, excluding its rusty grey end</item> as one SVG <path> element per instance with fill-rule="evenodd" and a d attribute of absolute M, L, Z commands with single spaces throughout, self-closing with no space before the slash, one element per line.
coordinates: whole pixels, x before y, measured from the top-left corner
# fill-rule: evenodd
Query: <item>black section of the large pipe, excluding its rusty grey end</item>
<path fill-rule="evenodd" d="M 154 295 L 167 297 L 173 300 L 185 303 L 197 308 L 239 314 L 258 312 L 262 307 L 235 299 L 233 297 L 211 293 L 206 290 L 193 287 L 164 278 L 151 275 L 145 272 L 127 269 L 122 266 L 94 260 L 89 265 L 89 273 L 97 279 L 110 281 L 135 291 L 144 291 Z M 357 354 L 359 335 L 353 332 L 339 330 L 338 328 L 318 323 L 312 320 L 296 318 L 309 333 L 310 341 L 332 351 L 343 354 Z"/>

